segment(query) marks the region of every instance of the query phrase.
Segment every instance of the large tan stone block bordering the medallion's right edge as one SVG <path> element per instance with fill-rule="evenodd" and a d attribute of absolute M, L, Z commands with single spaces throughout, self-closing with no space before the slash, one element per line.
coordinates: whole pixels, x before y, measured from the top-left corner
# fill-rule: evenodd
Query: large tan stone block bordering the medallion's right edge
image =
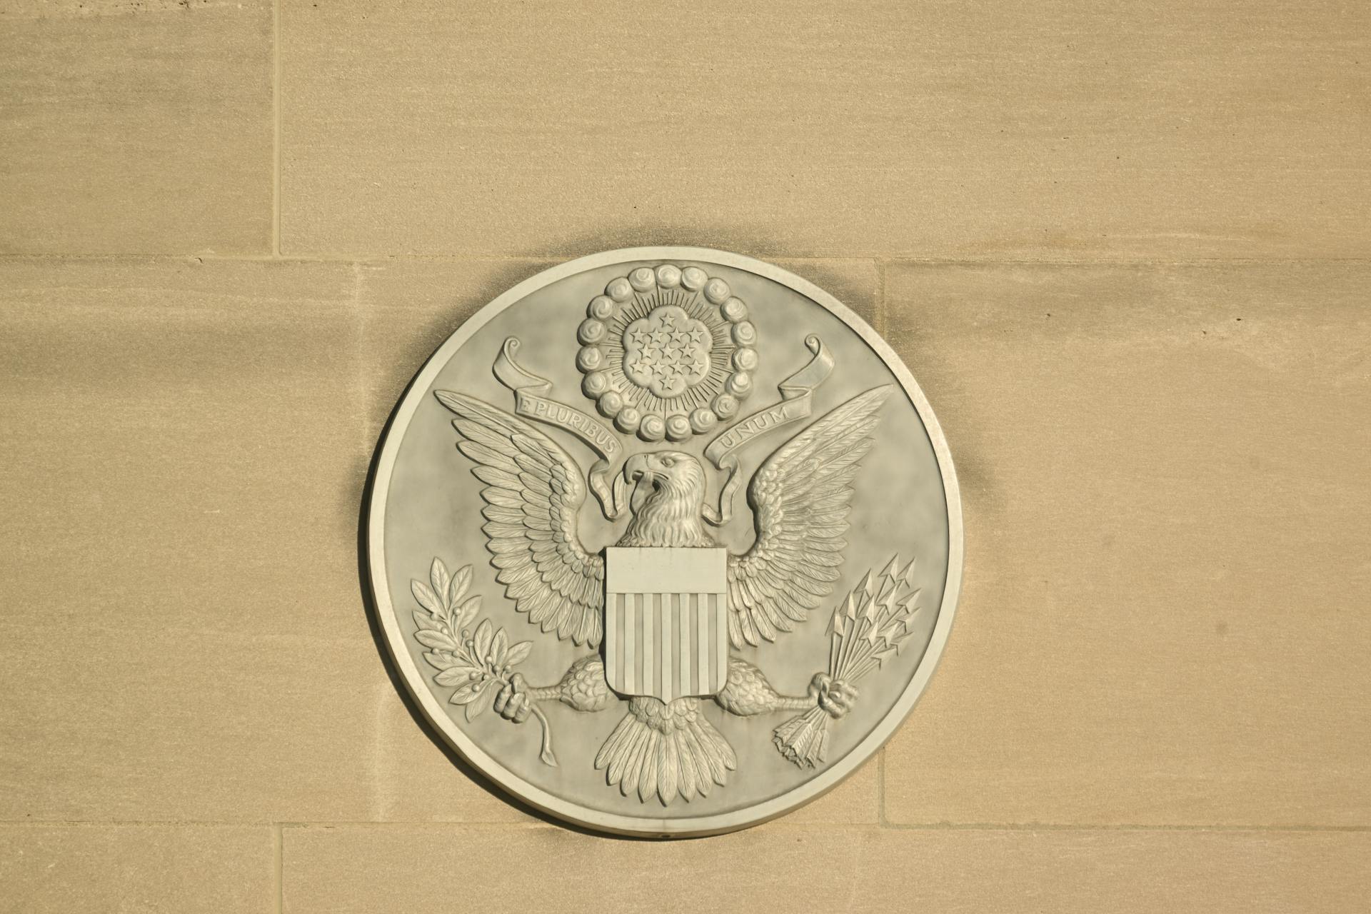
<path fill-rule="evenodd" d="M 967 522 L 888 818 L 1371 825 L 1371 267 L 886 288 Z"/>

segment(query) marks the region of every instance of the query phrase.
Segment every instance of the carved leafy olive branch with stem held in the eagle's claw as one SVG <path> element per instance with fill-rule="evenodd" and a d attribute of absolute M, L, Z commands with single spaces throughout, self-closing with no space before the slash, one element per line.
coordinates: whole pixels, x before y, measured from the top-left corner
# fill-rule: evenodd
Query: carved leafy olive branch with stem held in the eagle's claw
<path fill-rule="evenodd" d="M 429 569 L 428 582 L 410 580 L 410 592 L 424 610 L 414 610 L 414 623 L 420 630 L 414 639 L 429 648 L 424 659 L 439 670 L 433 681 L 439 685 L 457 687 L 447 699 L 451 704 L 463 706 L 468 722 L 489 707 L 500 688 L 510 684 L 513 667 L 522 663 L 532 641 L 510 644 L 505 629 L 496 629 L 489 619 L 472 630 L 472 622 L 481 608 L 481 596 L 466 596 L 472 584 L 472 566 L 448 574 L 441 559 L 435 558 Z M 544 765 L 557 767 L 553 755 L 553 729 L 543 711 L 536 704 L 531 707 L 539 724 L 543 725 L 543 748 L 540 758 Z"/>

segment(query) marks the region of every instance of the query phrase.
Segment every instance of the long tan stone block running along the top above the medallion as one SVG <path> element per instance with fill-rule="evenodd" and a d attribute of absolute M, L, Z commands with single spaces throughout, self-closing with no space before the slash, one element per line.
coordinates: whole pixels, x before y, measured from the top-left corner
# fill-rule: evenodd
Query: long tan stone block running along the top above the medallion
<path fill-rule="evenodd" d="M 289 254 L 1364 256 L 1371 7 L 282 0 Z"/>

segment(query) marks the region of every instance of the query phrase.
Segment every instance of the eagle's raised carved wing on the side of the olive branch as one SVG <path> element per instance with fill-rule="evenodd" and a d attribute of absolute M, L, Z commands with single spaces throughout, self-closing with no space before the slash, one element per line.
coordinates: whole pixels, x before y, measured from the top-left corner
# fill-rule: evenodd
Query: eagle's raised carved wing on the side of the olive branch
<path fill-rule="evenodd" d="M 436 391 L 457 414 L 458 449 L 485 484 L 481 528 L 499 571 L 495 580 L 514 608 L 559 639 L 595 647 L 600 640 L 605 559 L 576 532 L 585 484 L 555 441 L 518 417 L 474 397 Z"/>

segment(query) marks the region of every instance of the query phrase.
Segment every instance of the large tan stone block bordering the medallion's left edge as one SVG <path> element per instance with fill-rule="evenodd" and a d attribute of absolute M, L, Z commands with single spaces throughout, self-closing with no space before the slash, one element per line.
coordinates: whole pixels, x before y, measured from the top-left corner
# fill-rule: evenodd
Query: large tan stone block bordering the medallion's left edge
<path fill-rule="evenodd" d="M 0 817 L 366 818 L 352 270 L 0 264 Z"/>

